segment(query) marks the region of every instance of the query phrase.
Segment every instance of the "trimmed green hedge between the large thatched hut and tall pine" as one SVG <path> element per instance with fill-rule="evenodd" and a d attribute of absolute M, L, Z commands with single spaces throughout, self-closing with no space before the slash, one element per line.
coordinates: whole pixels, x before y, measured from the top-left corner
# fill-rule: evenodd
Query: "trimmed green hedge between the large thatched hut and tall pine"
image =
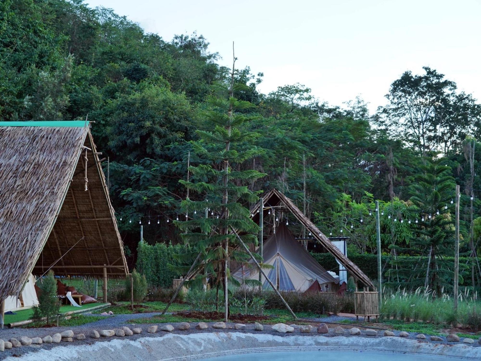
<path fill-rule="evenodd" d="M 184 253 L 186 247 L 186 245 L 166 245 L 165 243 L 149 245 L 140 242 L 137 247 L 136 268 L 139 273 L 145 275 L 147 284 L 150 286 L 172 287 L 172 280 L 178 278 L 178 275 L 167 265 L 169 263 L 174 266 L 180 265 L 173 255 Z"/>

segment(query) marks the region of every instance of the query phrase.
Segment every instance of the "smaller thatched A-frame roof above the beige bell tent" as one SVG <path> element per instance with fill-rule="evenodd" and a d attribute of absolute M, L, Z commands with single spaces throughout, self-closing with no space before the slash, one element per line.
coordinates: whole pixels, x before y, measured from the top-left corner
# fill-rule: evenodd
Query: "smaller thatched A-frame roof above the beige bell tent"
<path fill-rule="evenodd" d="M 324 235 L 321 231 L 317 229 L 314 223 L 311 222 L 310 219 L 304 216 L 304 214 L 299 210 L 299 208 L 284 194 L 280 193 L 278 190 L 273 189 L 266 194 L 263 195 L 264 197 L 264 208 L 266 207 L 275 207 L 275 206 L 285 206 L 287 210 L 289 210 L 294 217 L 301 222 L 308 232 L 311 232 L 312 237 L 316 239 L 321 245 L 323 245 L 330 254 L 332 254 L 335 258 L 342 263 L 342 265 L 351 272 L 355 278 L 361 281 L 366 286 L 374 287 L 374 284 L 371 282 L 369 277 L 364 274 L 363 271 L 359 269 L 349 258 L 344 256 L 344 254 L 337 248 L 332 242 L 329 240 L 328 237 Z M 260 210 L 260 202 L 254 205 L 251 208 L 251 214 L 253 214 L 253 220 L 259 223 L 259 213 L 257 210 Z M 264 209 L 264 218 L 267 217 L 268 210 Z"/>

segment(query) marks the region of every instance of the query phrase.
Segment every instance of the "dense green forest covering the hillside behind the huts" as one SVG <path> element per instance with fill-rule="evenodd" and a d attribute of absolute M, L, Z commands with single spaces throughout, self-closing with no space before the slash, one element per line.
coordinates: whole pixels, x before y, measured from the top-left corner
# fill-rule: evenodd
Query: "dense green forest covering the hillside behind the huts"
<path fill-rule="evenodd" d="M 208 165 L 193 146 L 201 142 L 198 131 L 212 130 L 204 114 L 229 82 L 218 60 L 201 33 L 162 39 L 83 0 L 0 2 L 0 118 L 95 121 L 131 263 L 139 222 L 152 222 L 144 227 L 148 243 L 181 242 L 172 226 L 186 198 L 179 180 L 204 181 L 201 174 L 187 180 L 188 162 Z M 306 215 L 326 234 L 342 230 L 350 252 L 361 254 L 375 253 L 371 214 L 378 199 L 383 253 L 428 257 L 433 247 L 452 256 L 450 200 L 459 184 L 461 253 L 480 250 L 481 104 L 449 75 L 406 69 L 386 83 L 386 104 L 374 114 L 361 98 L 322 103 L 302 84 L 263 94 L 263 74 L 249 67 L 234 76 L 244 86 L 233 97 L 252 104 L 239 111 L 252 119 L 241 131 L 253 136 L 237 142 L 238 151 L 255 156 L 233 170 L 266 174 L 250 192 L 277 188 L 303 209 L 305 189 Z M 214 151 L 215 144 L 204 140 L 203 148 Z M 436 210 L 443 222 L 420 229 L 421 217 Z M 302 234 L 300 224 L 290 225 Z"/>

